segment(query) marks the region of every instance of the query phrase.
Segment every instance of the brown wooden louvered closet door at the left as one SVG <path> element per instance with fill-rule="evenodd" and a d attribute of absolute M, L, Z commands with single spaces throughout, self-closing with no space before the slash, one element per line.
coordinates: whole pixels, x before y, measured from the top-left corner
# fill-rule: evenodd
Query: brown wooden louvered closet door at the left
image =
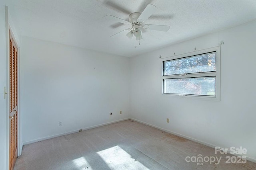
<path fill-rule="evenodd" d="M 18 144 L 18 49 L 10 35 L 10 143 L 9 143 L 9 169 L 14 168 L 17 158 Z"/>

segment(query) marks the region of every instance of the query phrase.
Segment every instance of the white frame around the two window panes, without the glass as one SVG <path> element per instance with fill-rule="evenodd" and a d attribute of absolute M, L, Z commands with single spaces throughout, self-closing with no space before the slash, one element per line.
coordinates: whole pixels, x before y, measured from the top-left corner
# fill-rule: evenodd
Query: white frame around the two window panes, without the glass
<path fill-rule="evenodd" d="M 200 73 L 189 73 L 189 74 L 177 74 L 177 75 L 164 75 L 164 62 L 181 59 L 186 57 L 191 57 L 194 55 L 201 55 L 205 53 L 211 53 L 216 51 L 216 71 L 214 72 L 200 72 Z M 196 77 L 208 77 L 208 76 L 216 76 L 216 96 L 202 96 L 202 95 L 192 95 L 192 94 L 168 94 L 164 93 L 164 79 L 170 78 L 196 78 Z M 162 94 L 163 95 L 170 95 L 170 96 L 179 96 L 184 98 L 198 98 L 204 100 L 215 100 L 220 101 L 220 46 L 213 47 L 209 49 L 194 51 L 191 53 L 176 55 L 172 57 L 166 57 L 162 59 Z"/>

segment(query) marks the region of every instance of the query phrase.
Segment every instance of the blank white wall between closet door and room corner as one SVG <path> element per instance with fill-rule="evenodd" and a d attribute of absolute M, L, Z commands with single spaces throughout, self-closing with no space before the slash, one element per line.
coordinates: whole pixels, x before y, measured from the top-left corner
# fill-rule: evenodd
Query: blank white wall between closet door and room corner
<path fill-rule="evenodd" d="M 130 117 L 127 57 L 22 37 L 20 75 L 24 144 Z"/>

